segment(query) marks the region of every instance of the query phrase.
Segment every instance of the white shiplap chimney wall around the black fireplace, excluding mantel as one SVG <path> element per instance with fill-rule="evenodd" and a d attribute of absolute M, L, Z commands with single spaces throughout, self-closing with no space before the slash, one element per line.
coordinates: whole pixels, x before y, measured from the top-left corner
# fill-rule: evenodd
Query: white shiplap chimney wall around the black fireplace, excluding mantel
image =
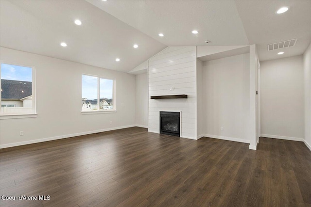
<path fill-rule="evenodd" d="M 148 81 L 149 96 L 188 95 L 181 99 L 149 99 L 149 131 L 159 133 L 159 111 L 182 111 L 180 136 L 197 139 L 196 48 L 168 47 L 150 58 Z M 175 90 L 170 91 L 171 87 Z"/>

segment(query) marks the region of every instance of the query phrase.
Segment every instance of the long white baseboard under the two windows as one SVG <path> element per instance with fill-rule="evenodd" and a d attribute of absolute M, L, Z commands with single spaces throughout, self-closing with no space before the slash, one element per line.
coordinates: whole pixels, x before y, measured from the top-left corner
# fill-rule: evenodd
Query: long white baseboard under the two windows
<path fill-rule="evenodd" d="M 0 149 L 7 148 L 7 147 L 13 147 L 13 146 L 20 146 L 20 145 L 25 145 L 25 144 L 42 143 L 42 142 L 47 142 L 47 141 L 52 141 L 52 140 L 59 140 L 59 139 L 64 139 L 64 138 L 69 138 L 69 137 L 76 137 L 76 136 L 82 136 L 82 135 L 86 135 L 86 134 L 94 134 L 94 133 L 99 133 L 99 132 L 104 132 L 104 131 L 112 131 L 112 130 L 117 130 L 117 129 L 122 129 L 122 128 L 129 128 L 129 127 L 136 127 L 136 125 L 128 125 L 128 126 L 114 127 L 114 128 L 105 128 L 105 129 L 99 129 L 99 130 L 94 130 L 94 131 L 86 131 L 86 132 L 80 132 L 80 133 L 74 133 L 74 134 L 66 134 L 66 135 L 61 135 L 61 136 L 48 137 L 48 138 L 30 140 L 30 141 L 24 141 L 24 142 L 18 142 L 18 143 L 1 144 Z"/>

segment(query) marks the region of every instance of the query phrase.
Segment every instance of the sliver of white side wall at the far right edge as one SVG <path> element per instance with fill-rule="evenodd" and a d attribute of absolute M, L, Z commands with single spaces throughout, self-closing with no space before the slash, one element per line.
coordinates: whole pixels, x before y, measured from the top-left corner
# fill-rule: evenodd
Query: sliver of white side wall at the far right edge
<path fill-rule="evenodd" d="M 305 143 L 311 150 L 311 44 L 303 55 L 305 96 Z"/>

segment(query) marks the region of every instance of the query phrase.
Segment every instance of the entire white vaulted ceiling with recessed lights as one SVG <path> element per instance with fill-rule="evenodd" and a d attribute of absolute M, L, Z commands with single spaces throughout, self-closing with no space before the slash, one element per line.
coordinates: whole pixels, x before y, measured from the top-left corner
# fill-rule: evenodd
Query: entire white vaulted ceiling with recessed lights
<path fill-rule="evenodd" d="M 277 15 L 282 6 L 289 11 Z M 123 72 L 167 46 L 207 46 L 205 40 L 208 46 L 257 44 L 260 61 L 300 55 L 311 42 L 310 25 L 310 0 L 0 1 L 1 47 Z M 267 50 L 294 38 L 282 56 Z"/>

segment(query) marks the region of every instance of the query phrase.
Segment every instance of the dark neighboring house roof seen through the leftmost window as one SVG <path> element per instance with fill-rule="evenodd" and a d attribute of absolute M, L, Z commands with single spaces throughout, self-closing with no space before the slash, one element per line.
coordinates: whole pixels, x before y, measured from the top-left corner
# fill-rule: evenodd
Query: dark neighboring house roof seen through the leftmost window
<path fill-rule="evenodd" d="M 1 99 L 22 99 L 32 95 L 32 82 L 1 79 Z"/>

